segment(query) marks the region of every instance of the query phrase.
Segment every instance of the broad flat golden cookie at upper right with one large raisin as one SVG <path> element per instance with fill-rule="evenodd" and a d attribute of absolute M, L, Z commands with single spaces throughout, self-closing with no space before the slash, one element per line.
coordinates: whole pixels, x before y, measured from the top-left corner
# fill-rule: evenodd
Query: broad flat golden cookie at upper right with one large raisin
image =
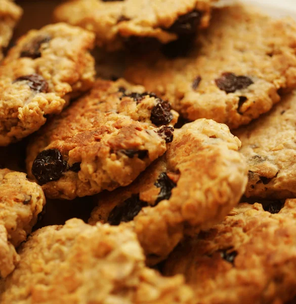
<path fill-rule="evenodd" d="M 173 49 L 176 50 L 176 49 Z M 247 124 L 296 87 L 296 23 L 250 8 L 213 12 L 208 30 L 185 58 L 141 60 L 125 77 L 168 98 L 184 118 Z"/>

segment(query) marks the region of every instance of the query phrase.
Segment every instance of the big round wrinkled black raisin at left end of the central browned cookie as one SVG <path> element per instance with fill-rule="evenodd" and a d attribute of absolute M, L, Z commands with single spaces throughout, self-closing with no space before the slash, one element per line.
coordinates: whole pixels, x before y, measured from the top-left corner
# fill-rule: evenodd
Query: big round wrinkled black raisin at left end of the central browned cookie
<path fill-rule="evenodd" d="M 41 151 L 32 165 L 32 174 L 40 184 L 58 180 L 63 175 L 65 163 L 59 150 L 48 149 Z"/>

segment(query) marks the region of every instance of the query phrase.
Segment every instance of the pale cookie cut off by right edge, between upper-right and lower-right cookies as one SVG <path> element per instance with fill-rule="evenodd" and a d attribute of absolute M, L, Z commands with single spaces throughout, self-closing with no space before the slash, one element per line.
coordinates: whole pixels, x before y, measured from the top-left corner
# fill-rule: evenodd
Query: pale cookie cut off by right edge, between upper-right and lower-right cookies
<path fill-rule="evenodd" d="M 296 195 L 296 92 L 235 134 L 248 164 L 246 197 L 284 199 Z"/>

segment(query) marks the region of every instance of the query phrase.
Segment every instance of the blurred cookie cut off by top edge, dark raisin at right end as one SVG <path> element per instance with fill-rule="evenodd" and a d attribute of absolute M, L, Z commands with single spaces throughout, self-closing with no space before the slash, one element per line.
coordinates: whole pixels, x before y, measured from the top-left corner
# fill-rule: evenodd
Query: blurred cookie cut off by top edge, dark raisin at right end
<path fill-rule="evenodd" d="M 168 43 L 195 33 L 198 27 L 208 25 L 210 3 L 211 0 L 76 0 L 60 5 L 55 18 L 94 31 L 100 46 L 114 50 L 131 38 Z"/>

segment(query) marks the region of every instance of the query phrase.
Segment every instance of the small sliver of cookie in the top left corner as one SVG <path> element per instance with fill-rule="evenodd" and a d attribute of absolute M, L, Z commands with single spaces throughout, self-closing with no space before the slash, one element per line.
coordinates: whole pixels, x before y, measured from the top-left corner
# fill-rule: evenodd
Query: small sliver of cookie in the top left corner
<path fill-rule="evenodd" d="M 0 0 L 0 60 L 3 48 L 8 47 L 13 29 L 22 16 L 22 9 L 11 0 Z"/>

